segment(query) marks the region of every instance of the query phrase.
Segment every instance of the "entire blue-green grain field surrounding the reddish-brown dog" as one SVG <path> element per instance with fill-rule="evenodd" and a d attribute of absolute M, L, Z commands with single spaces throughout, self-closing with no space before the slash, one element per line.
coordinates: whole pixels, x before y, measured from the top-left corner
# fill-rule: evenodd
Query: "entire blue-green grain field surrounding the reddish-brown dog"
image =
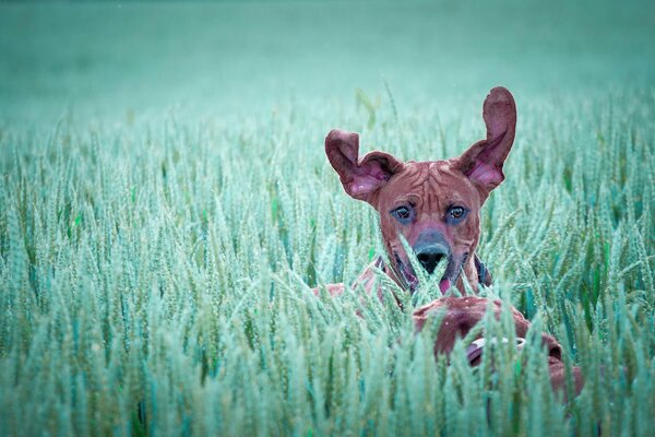
<path fill-rule="evenodd" d="M 636 1 L 0 4 L 0 435 L 652 435 L 653 29 Z M 436 288 L 310 291 L 382 252 L 330 129 L 448 158 L 496 85 L 483 294 L 577 397 L 534 341 L 434 359 Z"/>

